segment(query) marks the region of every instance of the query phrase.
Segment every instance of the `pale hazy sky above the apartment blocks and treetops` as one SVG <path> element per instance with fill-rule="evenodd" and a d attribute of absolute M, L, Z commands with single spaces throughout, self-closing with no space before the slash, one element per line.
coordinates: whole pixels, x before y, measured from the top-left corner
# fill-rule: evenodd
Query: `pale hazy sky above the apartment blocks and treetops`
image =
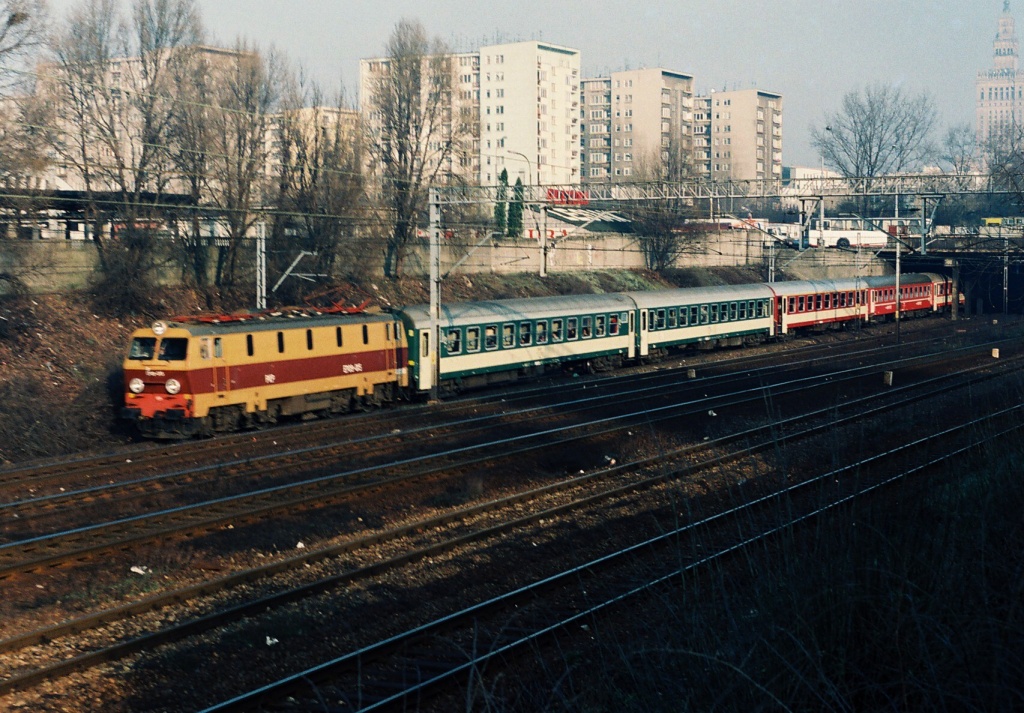
<path fill-rule="evenodd" d="M 49 0 L 59 16 L 80 0 Z M 544 40 L 579 49 L 583 76 L 660 67 L 697 93 L 783 97 L 785 165 L 818 166 L 810 128 L 877 82 L 929 91 L 940 132 L 974 125 L 974 82 L 992 66 L 1004 0 L 196 0 L 215 43 L 273 47 L 328 90 L 354 97 L 358 60 L 419 19 L 457 51 Z M 1024 33 L 1024 1 L 1011 11 Z M 1019 14 L 1018 14 L 1019 13 Z"/>

